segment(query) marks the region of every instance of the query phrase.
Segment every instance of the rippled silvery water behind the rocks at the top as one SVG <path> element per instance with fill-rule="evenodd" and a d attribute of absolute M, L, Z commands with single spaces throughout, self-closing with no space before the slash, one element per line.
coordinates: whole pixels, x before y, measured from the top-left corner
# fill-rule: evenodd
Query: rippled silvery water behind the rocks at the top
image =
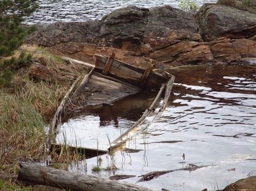
<path fill-rule="evenodd" d="M 57 21 L 88 21 L 101 19 L 111 11 L 128 5 L 138 7 L 155 7 L 171 5 L 178 7 L 178 0 L 38 0 L 39 8 L 30 17 L 26 18 L 27 24 L 50 24 Z M 196 0 L 198 5 L 214 0 Z"/>

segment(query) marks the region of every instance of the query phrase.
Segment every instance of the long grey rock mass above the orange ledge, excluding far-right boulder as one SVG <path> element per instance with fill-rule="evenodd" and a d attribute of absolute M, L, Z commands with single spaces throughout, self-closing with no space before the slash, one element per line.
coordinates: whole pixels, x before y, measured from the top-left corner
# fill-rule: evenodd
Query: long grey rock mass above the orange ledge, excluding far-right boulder
<path fill-rule="evenodd" d="M 42 46 L 90 43 L 149 55 L 177 41 L 200 41 L 197 29 L 197 22 L 183 10 L 167 5 L 152 9 L 128 6 L 104 16 L 101 21 L 39 26 L 37 32 L 26 38 L 26 43 Z"/>

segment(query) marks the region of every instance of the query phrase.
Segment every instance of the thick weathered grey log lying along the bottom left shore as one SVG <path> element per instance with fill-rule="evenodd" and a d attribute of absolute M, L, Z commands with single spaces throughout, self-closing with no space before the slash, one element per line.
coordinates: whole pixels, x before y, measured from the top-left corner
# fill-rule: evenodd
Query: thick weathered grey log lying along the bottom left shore
<path fill-rule="evenodd" d="M 112 181 L 91 175 L 75 174 L 65 170 L 21 163 L 18 180 L 26 184 L 41 184 L 79 191 L 152 191 L 138 185 Z"/>

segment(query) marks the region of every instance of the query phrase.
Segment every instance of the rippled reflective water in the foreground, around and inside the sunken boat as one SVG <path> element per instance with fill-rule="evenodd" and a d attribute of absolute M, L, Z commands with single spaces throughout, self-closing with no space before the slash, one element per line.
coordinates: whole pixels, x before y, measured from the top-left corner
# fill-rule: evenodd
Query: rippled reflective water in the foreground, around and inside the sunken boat
<path fill-rule="evenodd" d="M 176 79 L 162 117 L 144 132 L 135 132 L 126 145 L 128 151 L 118 151 L 112 159 L 101 156 L 101 168 L 115 163 L 119 170 L 96 175 L 136 175 L 124 181 L 158 190 L 191 191 L 223 189 L 238 179 L 256 175 L 256 160 L 252 160 L 256 159 L 256 62 L 181 67 L 170 73 Z M 72 118 L 61 130 L 73 144 L 96 148 L 98 139 L 98 147 L 106 149 L 108 139 L 113 141 L 138 120 L 153 97 L 155 92 L 129 97 L 107 110 Z M 147 118 L 148 124 L 152 118 Z M 97 159 L 81 164 L 79 172 L 94 174 L 91 169 Z M 137 182 L 138 176 L 147 172 L 180 169 L 189 164 L 207 167 Z"/>

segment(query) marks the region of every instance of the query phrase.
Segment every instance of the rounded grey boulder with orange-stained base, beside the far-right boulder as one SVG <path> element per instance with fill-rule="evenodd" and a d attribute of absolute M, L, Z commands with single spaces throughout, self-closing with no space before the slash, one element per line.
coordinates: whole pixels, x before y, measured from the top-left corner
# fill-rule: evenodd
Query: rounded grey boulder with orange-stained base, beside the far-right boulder
<path fill-rule="evenodd" d="M 155 7 L 147 13 L 143 53 L 163 49 L 180 41 L 200 41 L 194 17 L 169 5 Z"/>

